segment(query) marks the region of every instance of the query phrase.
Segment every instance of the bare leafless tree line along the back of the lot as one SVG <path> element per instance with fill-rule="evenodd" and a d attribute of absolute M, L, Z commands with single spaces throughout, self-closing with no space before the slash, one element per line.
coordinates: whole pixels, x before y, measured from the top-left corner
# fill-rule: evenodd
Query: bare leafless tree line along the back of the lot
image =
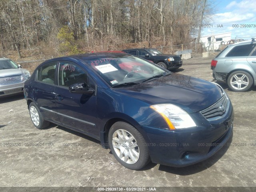
<path fill-rule="evenodd" d="M 1 0 L 0 48 L 20 55 L 39 42 L 58 44 L 63 28 L 72 44 L 88 48 L 182 44 L 200 36 L 211 11 L 206 0 Z"/>

